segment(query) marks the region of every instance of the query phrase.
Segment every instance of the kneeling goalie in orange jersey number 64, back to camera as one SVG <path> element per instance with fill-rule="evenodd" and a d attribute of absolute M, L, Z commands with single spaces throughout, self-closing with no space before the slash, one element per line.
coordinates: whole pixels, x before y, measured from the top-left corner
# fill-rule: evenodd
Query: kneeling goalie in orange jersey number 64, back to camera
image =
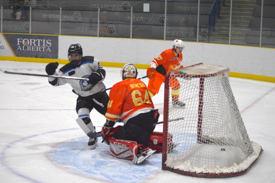
<path fill-rule="evenodd" d="M 151 137 L 160 114 L 154 104 L 147 87 L 137 78 L 137 68 L 128 63 L 121 69 L 122 80 L 110 90 L 109 103 L 102 128 L 102 138 L 110 147 L 111 155 L 134 164 L 140 164 L 156 150 L 142 144 Z M 123 122 L 123 126 L 113 128 L 115 122 Z"/>

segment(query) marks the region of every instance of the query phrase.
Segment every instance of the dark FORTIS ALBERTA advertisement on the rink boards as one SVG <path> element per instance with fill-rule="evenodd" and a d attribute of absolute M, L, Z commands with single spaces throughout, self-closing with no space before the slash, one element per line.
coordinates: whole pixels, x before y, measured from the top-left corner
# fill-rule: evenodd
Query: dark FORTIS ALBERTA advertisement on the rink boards
<path fill-rule="evenodd" d="M 2 36 L 15 57 L 58 59 L 58 36 L 25 34 L 2 34 Z"/>

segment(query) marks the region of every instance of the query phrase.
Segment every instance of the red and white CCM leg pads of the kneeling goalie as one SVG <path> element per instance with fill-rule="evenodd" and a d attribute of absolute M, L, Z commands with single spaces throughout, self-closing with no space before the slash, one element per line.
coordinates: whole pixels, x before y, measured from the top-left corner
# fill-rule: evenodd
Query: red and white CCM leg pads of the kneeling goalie
<path fill-rule="evenodd" d="M 112 128 L 107 136 L 107 143 L 110 147 L 110 154 L 116 158 L 132 160 L 133 164 L 140 164 L 151 156 L 154 152 L 162 152 L 162 132 L 153 132 L 144 144 L 138 144 L 131 140 L 117 140 L 112 137 L 121 126 Z M 102 138 L 106 138 L 104 133 Z M 169 148 L 172 150 L 174 144 L 172 136 L 169 138 Z"/>

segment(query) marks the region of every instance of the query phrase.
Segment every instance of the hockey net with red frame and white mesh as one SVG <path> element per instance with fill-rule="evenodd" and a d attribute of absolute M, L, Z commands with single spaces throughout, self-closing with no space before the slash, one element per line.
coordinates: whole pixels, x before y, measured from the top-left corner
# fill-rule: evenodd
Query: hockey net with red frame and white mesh
<path fill-rule="evenodd" d="M 229 85 L 229 68 L 199 63 L 178 71 L 165 78 L 162 169 L 197 177 L 247 172 L 263 150 L 249 139 Z M 169 82 L 174 78 L 186 108 L 172 105 Z"/>

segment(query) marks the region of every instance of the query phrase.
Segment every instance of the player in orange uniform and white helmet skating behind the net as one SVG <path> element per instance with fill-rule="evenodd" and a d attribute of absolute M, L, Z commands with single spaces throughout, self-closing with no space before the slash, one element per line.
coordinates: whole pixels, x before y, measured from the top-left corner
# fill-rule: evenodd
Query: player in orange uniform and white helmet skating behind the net
<path fill-rule="evenodd" d="M 151 67 L 147 69 L 149 78 L 148 91 L 151 97 L 158 94 L 160 86 L 164 83 L 166 72 L 183 68 L 182 50 L 184 44 L 181 40 L 174 40 L 172 48 L 163 51 L 160 56 L 151 61 Z M 172 89 L 172 104 L 175 107 L 185 108 L 185 103 L 178 100 L 180 93 L 180 84 L 174 77 L 170 80 L 170 87 Z"/>

